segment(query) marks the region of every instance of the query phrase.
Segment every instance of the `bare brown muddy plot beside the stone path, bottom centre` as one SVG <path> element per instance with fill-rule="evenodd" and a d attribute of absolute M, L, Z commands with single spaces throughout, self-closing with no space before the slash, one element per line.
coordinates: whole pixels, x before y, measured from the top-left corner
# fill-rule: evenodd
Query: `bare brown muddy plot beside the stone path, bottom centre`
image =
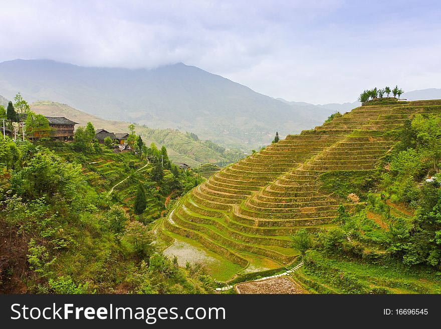
<path fill-rule="evenodd" d="M 305 293 L 296 282 L 287 276 L 240 283 L 236 285 L 235 289 L 239 293 Z"/>

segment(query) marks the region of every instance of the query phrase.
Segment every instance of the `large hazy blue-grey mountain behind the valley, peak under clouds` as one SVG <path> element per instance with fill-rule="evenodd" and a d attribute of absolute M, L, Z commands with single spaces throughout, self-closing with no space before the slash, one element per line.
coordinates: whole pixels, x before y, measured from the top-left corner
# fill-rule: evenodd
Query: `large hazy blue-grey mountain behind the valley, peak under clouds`
<path fill-rule="evenodd" d="M 332 110 L 288 104 L 182 63 L 152 70 L 87 68 L 49 60 L 0 63 L 0 94 L 66 103 L 104 119 L 177 128 L 249 148 L 320 125 Z"/>

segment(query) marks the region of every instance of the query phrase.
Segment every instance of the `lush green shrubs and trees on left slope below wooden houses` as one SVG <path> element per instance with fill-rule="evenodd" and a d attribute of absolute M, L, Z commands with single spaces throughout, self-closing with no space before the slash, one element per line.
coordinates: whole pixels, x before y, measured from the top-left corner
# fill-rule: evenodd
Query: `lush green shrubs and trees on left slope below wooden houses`
<path fill-rule="evenodd" d="M 134 138 L 140 152 L 115 154 L 92 130 L 77 130 L 73 143 L 0 138 L 0 291 L 210 291 L 203 269 L 163 256 L 148 227 L 200 178 L 171 164 L 165 147 Z"/>

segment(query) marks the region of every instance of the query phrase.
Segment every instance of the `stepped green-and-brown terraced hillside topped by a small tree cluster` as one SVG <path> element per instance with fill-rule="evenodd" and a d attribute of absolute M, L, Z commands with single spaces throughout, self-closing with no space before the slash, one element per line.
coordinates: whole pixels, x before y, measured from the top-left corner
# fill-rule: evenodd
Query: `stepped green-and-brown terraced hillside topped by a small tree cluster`
<path fill-rule="evenodd" d="M 289 135 L 187 193 L 162 221 L 162 232 L 197 240 L 244 268 L 256 268 L 256 259 L 286 266 L 299 254 L 293 232 L 330 226 L 337 215 L 340 202 L 332 191 L 319 192 L 318 176 L 373 170 L 397 142 L 391 132 L 416 113 L 441 113 L 441 100 L 358 107 Z"/>

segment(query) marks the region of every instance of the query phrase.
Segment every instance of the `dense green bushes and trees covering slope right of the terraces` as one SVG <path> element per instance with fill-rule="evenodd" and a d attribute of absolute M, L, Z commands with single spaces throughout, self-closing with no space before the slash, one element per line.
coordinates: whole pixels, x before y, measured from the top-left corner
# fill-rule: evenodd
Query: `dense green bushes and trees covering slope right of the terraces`
<path fill-rule="evenodd" d="M 297 278 L 312 290 L 441 292 L 441 117 L 416 114 L 394 134 L 377 169 L 321 176 L 341 200 L 355 191 L 365 202 L 341 206 L 335 228 L 294 235 L 305 254 Z"/>

